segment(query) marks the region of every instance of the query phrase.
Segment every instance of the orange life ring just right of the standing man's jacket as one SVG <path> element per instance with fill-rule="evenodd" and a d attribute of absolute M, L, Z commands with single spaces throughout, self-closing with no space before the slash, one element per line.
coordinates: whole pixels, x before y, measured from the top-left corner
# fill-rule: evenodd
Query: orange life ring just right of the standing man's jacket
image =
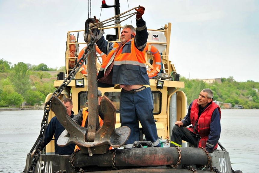
<path fill-rule="evenodd" d="M 147 44 L 145 47 L 146 52 L 150 52 L 154 58 L 153 58 L 153 63 L 152 66 L 154 67 L 152 70 L 148 69 L 148 77 L 153 78 L 155 77 L 161 70 L 161 54 L 159 53 L 158 49 L 154 47 L 153 45 Z"/>

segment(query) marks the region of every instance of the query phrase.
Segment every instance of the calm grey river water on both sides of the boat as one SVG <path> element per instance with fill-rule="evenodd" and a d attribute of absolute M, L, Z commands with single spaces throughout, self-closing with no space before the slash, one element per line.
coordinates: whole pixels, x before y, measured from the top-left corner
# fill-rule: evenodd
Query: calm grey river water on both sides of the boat
<path fill-rule="evenodd" d="M 0 172 L 21 173 L 39 136 L 43 110 L 0 112 Z M 222 110 L 220 143 L 232 168 L 259 172 L 259 110 Z"/>

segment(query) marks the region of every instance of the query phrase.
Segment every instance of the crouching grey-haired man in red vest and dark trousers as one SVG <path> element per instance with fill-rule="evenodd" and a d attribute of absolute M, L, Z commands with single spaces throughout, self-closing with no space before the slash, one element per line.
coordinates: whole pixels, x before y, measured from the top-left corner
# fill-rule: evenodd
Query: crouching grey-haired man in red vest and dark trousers
<path fill-rule="evenodd" d="M 217 149 L 220 138 L 220 107 L 213 102 L 211 89 L 203 89 L 198 99 L 192 101 L 188 113 L 176 121 L 172 130 L 170 147 L 182 147 L 182 140 L 194 147 L 203 147 L 209 153 Z M 185 128 L 192 125 L 188 128 Z"/>

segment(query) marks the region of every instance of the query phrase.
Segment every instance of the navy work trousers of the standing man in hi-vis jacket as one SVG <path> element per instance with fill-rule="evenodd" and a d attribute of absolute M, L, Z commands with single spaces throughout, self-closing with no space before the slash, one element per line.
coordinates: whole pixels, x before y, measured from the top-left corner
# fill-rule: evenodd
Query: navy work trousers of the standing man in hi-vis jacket
<path fill-rule="evenodd" d="M 131 148 L 135 141 L 139 141 L 139 122 L 145 134 L 146 141 L 160 147 L 157 127 L 153 115 L 154 103 L 150 87 L 136 92 L 120 93 L 120 123 L 130 128 L 130 137 L 124 148 Z"/>

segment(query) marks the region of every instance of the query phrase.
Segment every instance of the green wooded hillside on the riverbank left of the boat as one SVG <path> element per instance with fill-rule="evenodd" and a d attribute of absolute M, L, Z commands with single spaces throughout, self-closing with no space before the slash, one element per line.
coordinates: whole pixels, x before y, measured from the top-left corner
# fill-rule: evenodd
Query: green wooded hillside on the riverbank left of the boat
<path fill-rule="evenodd" d="M 4 59 L 0 60 L 0 64 L 0 107 L 20 107 L 24 101 L 30 106 L 40 105 L 49 93 L 55 91 L 54 79 L 45 82 L 42 78 L 51 79 L 52 76 L 46 71 L 57 71 L 57 68 L 48 68 L 43 63 L 31 65 L 23 62 L 12 66 Z"/>

